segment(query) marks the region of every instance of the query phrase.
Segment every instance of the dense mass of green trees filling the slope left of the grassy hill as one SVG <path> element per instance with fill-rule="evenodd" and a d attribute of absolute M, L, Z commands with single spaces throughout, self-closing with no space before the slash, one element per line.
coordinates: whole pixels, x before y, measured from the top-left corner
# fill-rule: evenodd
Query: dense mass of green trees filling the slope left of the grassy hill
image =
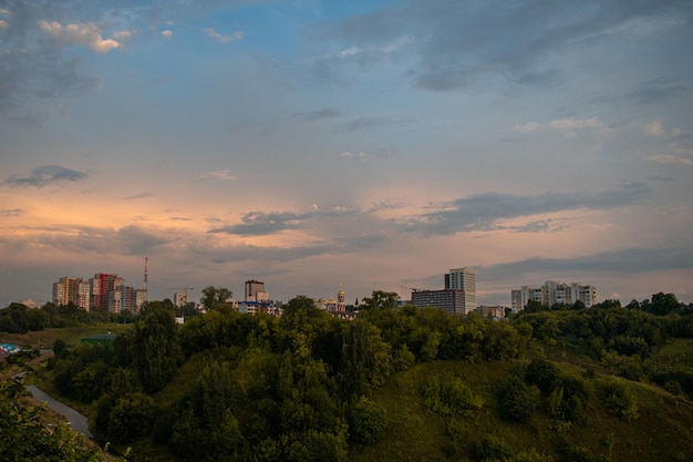
<path fill-rule="evenodd" d="M 151 438 L 188 461 L 344 461 L 351 444 L 382 435 L 386 415 L 371 393 L 392 373 L 436 359 L 516 359 L 531 336 L 528 325 L 389 299 L 374 292 L 353 321 L 297 297 L 281 318 L 219 305 L 182 327 L 167 304 L 149 302 L 113 345 L 60 345 L 53 384 L 95 401 L 96 433 L 117 444 Z M 174 379 L 185 390 L 155 401 Z"/>

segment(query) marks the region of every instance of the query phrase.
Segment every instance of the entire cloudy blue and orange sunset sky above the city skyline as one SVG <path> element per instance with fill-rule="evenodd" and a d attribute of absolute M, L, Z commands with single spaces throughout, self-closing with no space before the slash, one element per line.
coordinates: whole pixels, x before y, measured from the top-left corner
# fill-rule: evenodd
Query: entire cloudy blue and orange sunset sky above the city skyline
<path fill-rule="evenodd" d="M 691 0 L 0 0 L 0 307 L 693 301 Z"/>

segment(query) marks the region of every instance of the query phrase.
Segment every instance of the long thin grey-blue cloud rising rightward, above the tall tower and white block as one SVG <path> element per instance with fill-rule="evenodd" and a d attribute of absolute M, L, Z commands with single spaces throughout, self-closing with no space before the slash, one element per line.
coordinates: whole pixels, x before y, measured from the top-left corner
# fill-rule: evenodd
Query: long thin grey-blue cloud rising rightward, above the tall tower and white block
<path fill-rule="evenodd" d="M 498 230 L 507 229 L 499 224 L 503 219 L 580 208 L 592 211 L 617 208 L 637 203 L 651 193 L 652 188 L 644 183 L 631 183 L 601 193 L 544 193 L 526 196 L 485 193 L 458 198 L 438 207 L 442 208 L 439 211 L 407 218 L 403 224 L 406 230 L 426 235 Z M 546 229 L 546 226 L 542 225 L 540 228 Z"/>

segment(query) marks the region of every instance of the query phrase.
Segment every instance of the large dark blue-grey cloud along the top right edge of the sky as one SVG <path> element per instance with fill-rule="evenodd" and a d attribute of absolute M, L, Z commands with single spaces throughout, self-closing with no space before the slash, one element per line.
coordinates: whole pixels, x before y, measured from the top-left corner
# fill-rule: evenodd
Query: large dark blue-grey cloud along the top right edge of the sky
<path fill-rule="evenodd" d="M 341 76 L 343 72 L 324 68 L 380 65 L 383 52 L 406 50 L 397 58 L 412 70 L 411 83 L 425 90 L 448 92 L 487 85 L 493 79 L 556 85 L 569 78 L 558 71 L 569 53 L 591 51 L 621 35 L 634 40 L 634 32 L 640 40 L 669 33 L 685 28 L 690 19 L 685 1 L 587 0 L 576 8 L 570 2 L 410 0 L 316 31 L 318 47 L 338 51 L 314 61 L 321 75 Z"/>

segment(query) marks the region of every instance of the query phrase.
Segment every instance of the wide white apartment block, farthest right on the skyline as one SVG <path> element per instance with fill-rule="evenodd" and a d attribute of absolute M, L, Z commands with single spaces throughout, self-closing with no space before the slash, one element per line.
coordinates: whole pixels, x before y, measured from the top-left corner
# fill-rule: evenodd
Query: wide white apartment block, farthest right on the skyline
<path fill-rule="evenodd" d="M 572 305 L 581 301 L 585 307 L 591 308 L 597 302 L 597 288 L 583 286 L 580 283 L 562 284 L 557 280 L 547 280 L 541 287 L 523 286 L 510 291 L 513 312 L 525 309 L 529 300 L 545 306 Z"/>

